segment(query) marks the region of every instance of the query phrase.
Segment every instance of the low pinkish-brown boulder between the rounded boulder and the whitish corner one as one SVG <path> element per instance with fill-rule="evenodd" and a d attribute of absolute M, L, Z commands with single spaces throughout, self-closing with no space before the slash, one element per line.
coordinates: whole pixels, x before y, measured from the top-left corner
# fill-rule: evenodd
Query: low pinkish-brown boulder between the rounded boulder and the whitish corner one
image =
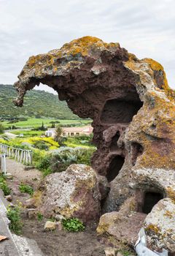
<path fill-rule="evenodd" d="M 120 211 L 112 211 L 102 215 L 97 227 L 98 235 L 109 238 L 114 245 L 122 242 L 134 246 L 147 215 L 136 212 L 136 206 L 133 203 L 134 198 L 128 198 Z"/>

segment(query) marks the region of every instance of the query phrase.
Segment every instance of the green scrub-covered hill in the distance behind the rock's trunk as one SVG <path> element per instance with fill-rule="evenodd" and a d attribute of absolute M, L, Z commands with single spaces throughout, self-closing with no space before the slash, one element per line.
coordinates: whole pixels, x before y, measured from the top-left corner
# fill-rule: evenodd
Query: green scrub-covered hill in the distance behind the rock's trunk
<path fill-rule="evenodd" d="M 0 84 L 0 118 L 35 116 L 57 119 L 79 119 L 61 102 L 58 96 L 46 91 L 31 90 L 26 93 L 22 108 L 15 107 L 12 100 L 17 97 L 11 85 Z"/>

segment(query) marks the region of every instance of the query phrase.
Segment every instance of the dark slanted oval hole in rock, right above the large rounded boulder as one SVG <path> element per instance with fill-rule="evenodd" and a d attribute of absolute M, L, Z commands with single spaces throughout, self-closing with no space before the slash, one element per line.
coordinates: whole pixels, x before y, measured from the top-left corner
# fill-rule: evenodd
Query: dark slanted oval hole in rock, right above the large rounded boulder
<path fill-rule="evenodd" d="M 112 162 L 109 165 L 109 170 L 107 171 L 107 175 L 106 175 L 106 178 L 109 182 L 113 181 L 113 179 L 118 175 L 118 173 L 123 167 L 124 162 L 125 162 L 125 157 L 122 157 L 122 156 L 115 156 L 112 159 Z"/>

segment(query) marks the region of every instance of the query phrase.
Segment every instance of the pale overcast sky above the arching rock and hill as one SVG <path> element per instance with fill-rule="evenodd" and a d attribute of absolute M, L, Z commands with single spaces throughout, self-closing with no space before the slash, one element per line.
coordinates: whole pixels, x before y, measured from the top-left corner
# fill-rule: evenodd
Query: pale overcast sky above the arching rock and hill
<path fill-rule="evenodd" d="M 0 0 L 0 83 L 29 56 L 91 35 L 159 61 L 175 89 L 174 10 L 174 0 Z"/>

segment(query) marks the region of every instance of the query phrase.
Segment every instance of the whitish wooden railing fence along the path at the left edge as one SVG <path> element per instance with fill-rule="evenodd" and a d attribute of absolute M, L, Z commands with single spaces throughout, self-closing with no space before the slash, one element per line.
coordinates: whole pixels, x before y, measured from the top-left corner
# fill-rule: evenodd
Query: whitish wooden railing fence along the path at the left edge
<path fill-rule="evenodd" d="M 7 146 L 0 143 L 0 151 L 7 155 L 7 157 L 15 158 L 18 162 L 23 162 L 23 164 L 31 165 L 32 163 L 32 151 L 22 148 L 14 148 L 12 146 Z"/>

